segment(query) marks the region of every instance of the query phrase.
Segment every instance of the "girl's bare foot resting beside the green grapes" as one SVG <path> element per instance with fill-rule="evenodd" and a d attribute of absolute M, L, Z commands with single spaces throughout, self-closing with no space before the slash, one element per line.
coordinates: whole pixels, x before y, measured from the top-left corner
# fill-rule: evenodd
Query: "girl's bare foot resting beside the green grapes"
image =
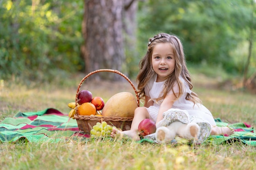
<path fill-rule="evenodd" d="M 110 133 L 110 137 L 112 138 L 118 138 L 121 139 L 126 135 L 127 137 L 130 137 L 131 139 L 135 141 L 139 141 L 140 137 L 136 130 L 129 130 L 129 131 L 119 131 L 115 128 L 112 129 L 112 132 Z"/>

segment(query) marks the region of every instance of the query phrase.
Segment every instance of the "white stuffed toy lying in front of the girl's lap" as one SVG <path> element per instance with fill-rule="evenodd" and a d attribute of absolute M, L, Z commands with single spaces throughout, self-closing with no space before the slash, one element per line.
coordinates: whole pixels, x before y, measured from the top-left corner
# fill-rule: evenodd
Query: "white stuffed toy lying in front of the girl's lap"
<path fill-rule="evenodd" d="M 155 133 L 145 136 L 157 143 L 171 142 L 178 135 L 197 144 L 211 133 L 211 125 L 198 116 L 189 116 L 186 110 L 169 109 L 163 113 L 163 120 L 157 123 Z"/>

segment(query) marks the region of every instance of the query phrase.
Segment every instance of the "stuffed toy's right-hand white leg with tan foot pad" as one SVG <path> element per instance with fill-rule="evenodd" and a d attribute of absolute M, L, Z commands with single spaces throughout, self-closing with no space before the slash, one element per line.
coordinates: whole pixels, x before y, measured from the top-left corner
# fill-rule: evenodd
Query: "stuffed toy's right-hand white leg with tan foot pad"
<path fill-rule="evenodd" d="M 196 123 L 182 124 L 177 129 L 177 135 L 187 139 L 198 139 L 200 135 L 200 126 Z"/>

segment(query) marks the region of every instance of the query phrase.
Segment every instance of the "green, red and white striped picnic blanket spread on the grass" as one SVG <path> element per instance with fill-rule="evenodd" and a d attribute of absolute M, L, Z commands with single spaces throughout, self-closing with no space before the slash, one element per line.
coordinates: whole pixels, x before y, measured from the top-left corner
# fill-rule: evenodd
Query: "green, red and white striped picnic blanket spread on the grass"
<path fill-rule="evenodd" d="M 249 146 L 256 146 L 256 133 L 252 126 L 245 122 L 228 124 L 216 119 L 218 126 L 227 126 L 235 129 L 230 136 L 213 136 L 206 140 L 212 144 L 228 144 L 240 142 Z M 5 118 L 0 122 L 0 142 L 61 142 L 70 138 L 88 138 L 90 135 L 81 133 L 76 120 L 69 119 L 57 109 L 49 108 L 38 112 L 19 112 L 13 118 Z M 149 142 L 141 139 L 139 143 Z"/>

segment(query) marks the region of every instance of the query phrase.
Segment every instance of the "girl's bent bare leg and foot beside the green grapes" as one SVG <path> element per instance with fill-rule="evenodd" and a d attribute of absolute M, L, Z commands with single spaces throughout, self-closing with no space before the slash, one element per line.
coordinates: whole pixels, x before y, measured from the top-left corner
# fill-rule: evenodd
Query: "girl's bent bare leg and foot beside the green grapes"
<path fill-rule="evenodd" d="M 110 136 L 115 137 L 116 135 L 120 135 L 120 137 L 122 137 L 123 135 L 127 135 L 128 137 L 138 141 L 140 140 L 138 133 L 139 123 L 146 118 L 149 118 L 149 113 L 146 107 L 137 107 L 134 111 L 134 118 L 132 120 L 131 129 L 128 131 L 112 129 Z"/>

